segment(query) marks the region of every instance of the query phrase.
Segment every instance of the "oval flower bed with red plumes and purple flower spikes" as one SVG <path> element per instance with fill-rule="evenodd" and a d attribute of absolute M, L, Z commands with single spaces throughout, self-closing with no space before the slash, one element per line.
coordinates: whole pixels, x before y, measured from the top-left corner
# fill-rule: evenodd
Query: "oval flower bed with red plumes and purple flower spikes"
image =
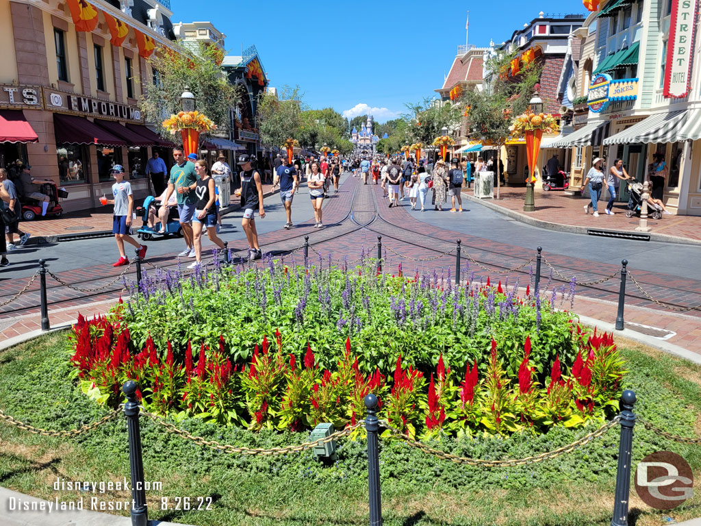
<path fill-rule="evenodd" d="M 135 379 L 161 414 L 298 430 L 355 423 L 372 392 L 383 418 L 423 436 L 581 426 L 618 407 L 611 335 L 555 311 L 557 292 L 541 302 L 489 280 L 454 287 L 435 273 L 377 274 L 372 262 L 272 260 L 187 278 L 156 271 L 139 288 L 109 318 L 74 328 L 71 361 L 101 403 L 118 403 Z"/>

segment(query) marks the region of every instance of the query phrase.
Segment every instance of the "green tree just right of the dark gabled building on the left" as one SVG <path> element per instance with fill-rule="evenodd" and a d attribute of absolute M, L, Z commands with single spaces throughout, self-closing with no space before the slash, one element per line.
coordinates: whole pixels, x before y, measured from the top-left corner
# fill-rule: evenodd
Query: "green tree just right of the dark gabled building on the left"
<path fill-rule="evenodd" d="M 303 123 L 301 113 L 299 86 L 284 86 L 279 98 L 271 93 L 261 92 L 257 112 L 261 144 L 280 148 L 288 138 L 299 140 Z"/>

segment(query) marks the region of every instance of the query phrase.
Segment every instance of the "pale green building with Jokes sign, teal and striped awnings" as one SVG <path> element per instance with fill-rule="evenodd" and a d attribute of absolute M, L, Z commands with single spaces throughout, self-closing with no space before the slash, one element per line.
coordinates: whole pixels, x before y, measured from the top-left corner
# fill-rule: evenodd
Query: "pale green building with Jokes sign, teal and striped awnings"
<path fill-rule="evenodd" d="M 571 182 L 594 157 L 622 159 L 644 181 L 655 154 L 669 170 L 664 199 L 677 214 L 701 215 L 701 74 L 696 2 L 610 0 L 589 15 L 580 39 L 574 118 L 584 126 L 557 144 L 573 151 Z M 691 20 L 692 23 L 685 23 Z M 579 107 L 578 107 L 579 106 Z M 627 201 L 622 185 L 619 201 Z"/>

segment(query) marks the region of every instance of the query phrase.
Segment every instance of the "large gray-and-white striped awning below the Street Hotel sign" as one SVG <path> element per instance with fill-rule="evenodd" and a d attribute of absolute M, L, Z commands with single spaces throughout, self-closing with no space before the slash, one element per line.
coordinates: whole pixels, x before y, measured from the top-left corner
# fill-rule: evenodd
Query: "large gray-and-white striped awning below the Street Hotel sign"
<path fill-rule="evenodd" d="M 678 142 L 701 139 L 701 109 L 653 114 L 627 130 L 608 137 L 604 144 Z"/>

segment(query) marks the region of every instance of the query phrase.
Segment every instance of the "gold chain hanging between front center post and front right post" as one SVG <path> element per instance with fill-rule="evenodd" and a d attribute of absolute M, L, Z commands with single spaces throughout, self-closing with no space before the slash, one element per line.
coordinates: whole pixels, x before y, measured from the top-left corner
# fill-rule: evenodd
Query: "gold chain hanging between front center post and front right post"
<path fill-rule="evenodd" d="M 438 457 L 439 459 L 442 460 L 449 460 L 453 462 L 454 464 L 466 464 L 468 466 L 487 466 L 487 467 L 493 467 L 493 468 L 504 468 L 504 467 L 510 467 L 510 466 L 523 466 L 525 464 L 535 464 L 536 462 L 541 462 L 546 459 L 552 459 L 554 457 L 559 457 L 561 454 L 565 453 L 570 453 L 576 450 L 578 447 L 582 447 L 583 445 L 586 445 L 589 443 L 591 440 L 594 438 L 599 438 L 600 436 L 604 435 L 606 431 L 611 429 L 613 426 L 618 425 L 618 422 L 620 421 L 620 415 L 617 415 L 611 422 L 606 422 L 603 426 L 599 427 L 596 431 L 592 431 L 591 433 L 588 433 L 587 435 L 583 436 L 582 438 L 575 440 L 573 443 L 569 445 L 564 445 L 562 447 L 558 447 L 556 450 L 552 451 L 546 451 L 544 453 L 540 453 L 537 455 L 534 455 L 533 457 L 525 457 L 523 459 L 505 459 L 505 460 L 484 460 L 484 459 L 472 459 L 470 457 L 460 457 L 459 455 L 456 454 L 451 454 L 447 453 L 441 450 L 437 450 L 433 447 L 429 447 L 428 445 L 418 442 L 418 440 L 415 440 L 414 438 L 411 438 L 409 435 L 406 433 L 402 433 L 399 429 L 394 428 L 393 426 L 390 426 L 388 422 L 386 421 L 381 421 L 381 425 L 386 427 L 390 433 L 392 433 L 393 436 L 396 436 L 398 438 L 401 438 L 406 442 L 408 445 L 411 447 L 416 447 L 418 450 L 423 451 L 426 454 L 432 454 L 434 457 Z"/>

